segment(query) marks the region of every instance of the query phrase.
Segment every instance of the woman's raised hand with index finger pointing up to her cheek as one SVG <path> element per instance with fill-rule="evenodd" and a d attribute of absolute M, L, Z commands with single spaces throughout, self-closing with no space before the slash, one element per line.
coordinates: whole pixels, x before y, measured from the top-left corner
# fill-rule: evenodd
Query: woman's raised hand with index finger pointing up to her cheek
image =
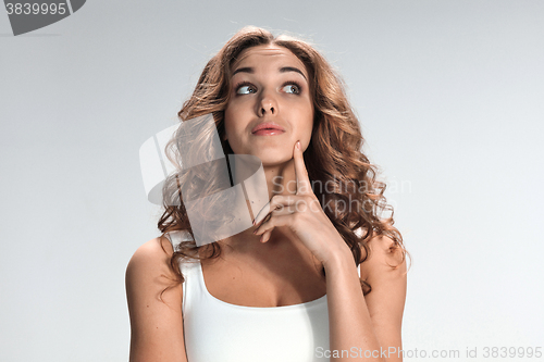
<path fill-rule="evenodd" d="M 345 251 L 347 245 L 313 194 L 300 141 L 295 143 L 294 159 L 296 194 L 274 195 L 269 202 L 270 213 L 257 223 L 254 234 L 262 234 L 261 242 L 267 242 L 274 227 L 286 226 L 325 265 L 336 252 Z M 260 220 L 260 213 L 255 220 Z"/>

